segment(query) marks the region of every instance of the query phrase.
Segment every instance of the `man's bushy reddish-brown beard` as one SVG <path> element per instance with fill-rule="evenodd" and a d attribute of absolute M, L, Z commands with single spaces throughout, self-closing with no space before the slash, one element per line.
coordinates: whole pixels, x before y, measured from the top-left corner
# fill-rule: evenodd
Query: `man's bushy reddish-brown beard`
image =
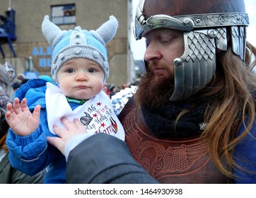
<path fill-rule="evenodd" d="M 136 102 L 140 106 L 157 107 L 170 103 L 173 94 L 174 81 L 172 77 L 158 78 L 149 71 L 141 78 L 138 91 L 136 91 Z"/>

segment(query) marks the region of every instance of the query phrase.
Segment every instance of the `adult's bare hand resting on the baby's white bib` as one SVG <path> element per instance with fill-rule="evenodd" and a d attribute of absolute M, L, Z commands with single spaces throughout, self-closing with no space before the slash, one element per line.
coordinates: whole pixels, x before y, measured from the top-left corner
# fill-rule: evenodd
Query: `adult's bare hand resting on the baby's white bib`
<path fill-rule="evenodd" d="M 62 129 L 56 125 L 54 125 L 53 130 L 59 137 L 50 137 L 47 136 L 47 141 L 59 149 L 62 154 L 65 154 L 65 147 L 68 141 L 78 134 L 87 134 L 86 128 L 78 119 L 74 119 L 73 122 L 68 120 L 66 117 L 61 118 L 62 124 L 66 129 Z"/>

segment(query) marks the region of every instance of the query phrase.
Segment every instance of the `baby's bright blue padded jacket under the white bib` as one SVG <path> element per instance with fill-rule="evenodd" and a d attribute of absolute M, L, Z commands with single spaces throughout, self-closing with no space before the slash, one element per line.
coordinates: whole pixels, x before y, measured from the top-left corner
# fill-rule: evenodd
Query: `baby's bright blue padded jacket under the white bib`
<path fill-rule="evenodd" d="M 47 144 L 47 136 L 54 136 L 47 125 L 45 91 L 47 81 L 32 79 L 18 88 L 14 98 L 27 98 L 31 111 L 41 105 L 40 126 L 28 136 L 16 136 L 10 129 L 6 139 L 9 148 L 9 161 L 14 168 L 28 175 L 35 175 L 47 168 L 44 183 L 66 182 L 66 160 L 62 153 Z M 70 103 L 72 110 L 78 105 Z"/>

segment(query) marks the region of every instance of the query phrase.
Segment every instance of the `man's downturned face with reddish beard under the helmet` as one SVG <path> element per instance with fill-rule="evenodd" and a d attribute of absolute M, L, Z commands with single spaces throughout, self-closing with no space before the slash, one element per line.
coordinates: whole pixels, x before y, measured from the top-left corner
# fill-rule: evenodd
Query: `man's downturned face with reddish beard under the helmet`
<path fill-rule="evenodd" d="M 161 28 L 152 30 L 145 38 L 147 74 L 139 83 L 137 100 L 141 105 L 163 105 L 173 93 L 174 59 L 184 52 L 183 33 Z"/>

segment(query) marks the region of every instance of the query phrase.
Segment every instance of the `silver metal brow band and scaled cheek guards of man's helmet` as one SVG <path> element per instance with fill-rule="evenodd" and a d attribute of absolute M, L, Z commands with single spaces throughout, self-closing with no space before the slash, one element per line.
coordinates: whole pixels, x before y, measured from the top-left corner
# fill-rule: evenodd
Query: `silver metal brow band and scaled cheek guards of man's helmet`
<path fill-rule="evenodd" d="M 239 0 L 238 0 L 239 1 Z M 168 1 L 170 2 L 170 1 Z M 213 1 L 214 2 L 214 1 Z M 189 98 L 204 88 L 216 71 L 216 48 L 228 48 L 227 27 L 231 27 L 233 53 L 245 60 L 246 13 L 203 13 L 183 16 L 157 14 L 144 17 L 144 0 L 136 8 L 136 40 L 157 28 L 184 32 L 185 51 L 174 60 L 175 88 L 171 101 Z"/>

